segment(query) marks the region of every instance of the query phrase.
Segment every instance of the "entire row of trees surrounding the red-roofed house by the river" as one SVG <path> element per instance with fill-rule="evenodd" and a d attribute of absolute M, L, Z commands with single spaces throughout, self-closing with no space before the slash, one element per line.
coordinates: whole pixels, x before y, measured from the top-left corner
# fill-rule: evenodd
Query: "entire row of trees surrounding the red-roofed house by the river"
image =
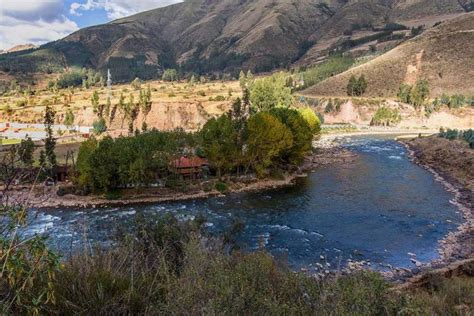
<path fill-rule="evenodd" d="M 273 108 L 250 116 L 242 101 L 209 120 L 199 133 L 152 130 L 134 136 L 91 138 L 79 150 L 76 185 L 85 192 L 140 188 L 158 179 L 175 180 L 168 167 L 181 155 L 201 155 L 218 177 L 299 164 L 311 151 L 318 117 L 311 109 Z"/>

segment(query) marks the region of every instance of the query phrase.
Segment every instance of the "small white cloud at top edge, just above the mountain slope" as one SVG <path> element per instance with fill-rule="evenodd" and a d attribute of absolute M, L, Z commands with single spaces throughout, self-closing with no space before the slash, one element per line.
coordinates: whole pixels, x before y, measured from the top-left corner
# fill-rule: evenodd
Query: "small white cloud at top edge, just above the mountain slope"
<path fill-rule="evenodd" d="M 118 19 L 178 2 L 182 2 L 182 0 L 87 0 L 82 3 L 72 3 L 69 12 L 74 15 L 81 15 L 80 11 L 103 9 L 107 12 L 109 19 Z"/>

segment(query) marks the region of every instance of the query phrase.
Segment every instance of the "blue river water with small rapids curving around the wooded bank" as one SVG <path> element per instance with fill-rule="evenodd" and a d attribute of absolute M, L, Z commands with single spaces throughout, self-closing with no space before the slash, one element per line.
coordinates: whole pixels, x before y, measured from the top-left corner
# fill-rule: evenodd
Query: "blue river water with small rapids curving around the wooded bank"
<path fill-rule="evenodd" d="M 450 202 L 454 195 L 433 175 L 413 164 L 406 149 L 390 137 L 358 136 L 340 140 L 357 153 L 354 162 L 324 166 L 297 185 L 223 198 L 91 210 L 35 213 L 28 234 L 46 233 L 66 255 L 88 245 L 110 244 L 110 236 L 137 214 L 172 213 L 206 218 L 210 233 L 219 234 L 240 221 L 245 229 L 238 245 L 255 250 L 263 243 L 291 267 L 348 260 L 413 266 L 437 258 L 438 241 L 462 221 Z M 87 243 L 86 243 L 87 244 Z"/>

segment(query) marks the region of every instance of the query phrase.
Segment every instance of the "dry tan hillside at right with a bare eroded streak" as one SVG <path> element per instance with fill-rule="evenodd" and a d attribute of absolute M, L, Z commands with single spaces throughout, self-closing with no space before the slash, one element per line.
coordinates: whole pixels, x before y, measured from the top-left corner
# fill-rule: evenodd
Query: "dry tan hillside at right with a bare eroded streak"
<path fill-rule="evenodd" d="M 304 95 L 346 95 L 352 75 L 368 81 L 366 96 L 397 94 L 400 84 L 426 79 L 431 96 L 474 94 L 474 12 L 441 23 L 389 52 L 331 77 Z"/>

